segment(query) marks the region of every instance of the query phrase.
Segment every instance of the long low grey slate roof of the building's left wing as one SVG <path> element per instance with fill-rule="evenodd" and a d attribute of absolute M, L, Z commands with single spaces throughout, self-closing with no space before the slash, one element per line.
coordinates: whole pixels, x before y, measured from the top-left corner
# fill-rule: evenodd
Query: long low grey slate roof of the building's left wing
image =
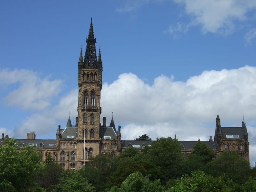
<path fill-rule="evenodd" d="M 16 139 L 15 142 L 19 142 L 19 144 L 22 144 L 24 146 L 27 146 L 29 144 L 37 144 L 35 147 L 37 149 L 40 148 L 40 144 L 43 144 L 43 149 L 55 149 L 56 148 L 56 140 L 54 139 Z M 49 146 L 50 144 L 50 146 Z M 20 146 L 19 146 L 20 147 Z"/>

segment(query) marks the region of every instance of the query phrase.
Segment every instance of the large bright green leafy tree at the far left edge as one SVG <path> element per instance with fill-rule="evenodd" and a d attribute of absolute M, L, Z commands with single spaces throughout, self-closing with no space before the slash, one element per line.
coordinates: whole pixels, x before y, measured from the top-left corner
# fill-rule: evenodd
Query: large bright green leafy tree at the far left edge
<path fill-rule="evenodd" d="M 0 191 L 29 191 L 39 170 L 41 155 L 26 146 L 17 150 L 14 139 L 0 146 Z"/>

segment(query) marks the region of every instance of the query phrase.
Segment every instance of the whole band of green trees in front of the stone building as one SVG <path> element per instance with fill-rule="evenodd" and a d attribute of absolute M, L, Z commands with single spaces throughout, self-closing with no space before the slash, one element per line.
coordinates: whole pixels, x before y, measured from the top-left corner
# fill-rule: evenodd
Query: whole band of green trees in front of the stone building
<path fill-rule="evenodd" d="M 208 192 L 256 191 L 256 168 L 235 151 L 215 156 L 197 142 L 185 158 L 176 139 L 158 138 L 142 151 L 128 147 L 120 156 L 99 154 L 85 170 L 62 170 L 50 154 L 26 146 L 17 150 L 14 139 L 0 146 L 0 191 L 33 192 Z"/>

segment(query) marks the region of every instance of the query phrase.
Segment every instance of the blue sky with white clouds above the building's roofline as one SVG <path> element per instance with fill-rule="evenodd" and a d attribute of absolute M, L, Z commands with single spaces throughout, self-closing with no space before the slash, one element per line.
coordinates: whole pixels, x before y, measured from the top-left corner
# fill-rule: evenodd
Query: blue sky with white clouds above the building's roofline
<path fill-rule="evenodd" d="M 55 139 L 77 116 L 77 62 L 92 17 L 102 117 L 123 140 L 209 140 L 247 126 L 256 161 L 256 1 L 0 1 L 0 132 Z"/>

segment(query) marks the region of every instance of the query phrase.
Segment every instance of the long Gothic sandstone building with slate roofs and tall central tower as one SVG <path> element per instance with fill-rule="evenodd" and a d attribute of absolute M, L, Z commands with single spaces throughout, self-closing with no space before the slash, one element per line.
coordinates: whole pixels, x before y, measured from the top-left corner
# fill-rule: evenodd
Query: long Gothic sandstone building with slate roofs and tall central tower
<path fill-rule="evenodd" d="M 76 124 L 72 125 L 70 117 L 64 129 L 58 125 L 56 140 L 36 139 L 36 134 L 30 132 L 27 139 L 16 139 L 19 143 L 18 149 L 23 146 L 35 146 L 45 161 L 46 154 L 52 156 L 54 161 L 63 169 L 80 169 L 84 162 L 100 153 L 110 153 L 118 156 L 127 147 L 135 147 L 139 150 L 145 145 L 151 145 L 154 141 L 121 140 L 121 127 L 116 126 L 113 120 L 109 126 L 106 117 L 100 124 L 100 91 L 102 87 L 102 60 L 99 50 L 96 54 L 96 38 L 94 38 L 92 19 L 88 37 L 86 38 L 86 49 L 83 58 L 82 49 L 78 60 L 78 116 Z M 8 136 L 7 136 L 8 137 Z M 176 135 L 175 135 L 176 138 Z M 3 142 L 2 134 L 1 142 Z M 85 142 L 84 142 L 85 141 Z M 180 141 L 181 152 L 187 156 L 192 152 L 198 141 Z M 205 142 L 213 149 L 216 155 L 225 150 L 235 150 L 247 161 L 249 161 L 248 133 L 244 121 L 242 127 L 222 127 L 217 115 L 214 140 L 210 136 Z"/>

